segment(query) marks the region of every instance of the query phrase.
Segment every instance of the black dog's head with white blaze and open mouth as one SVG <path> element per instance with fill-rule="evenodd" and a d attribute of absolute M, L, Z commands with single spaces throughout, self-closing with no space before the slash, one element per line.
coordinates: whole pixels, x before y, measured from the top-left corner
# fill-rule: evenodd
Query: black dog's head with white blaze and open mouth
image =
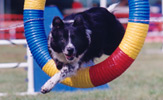
<path fill-rule="evenodd" d="M 53 50 L 63 53 L 68 62 L 81 57 L 91 42 L 91 31 L 85 28 L 81 16 L 71 21 L 54 17 L 50 34 Z"/>

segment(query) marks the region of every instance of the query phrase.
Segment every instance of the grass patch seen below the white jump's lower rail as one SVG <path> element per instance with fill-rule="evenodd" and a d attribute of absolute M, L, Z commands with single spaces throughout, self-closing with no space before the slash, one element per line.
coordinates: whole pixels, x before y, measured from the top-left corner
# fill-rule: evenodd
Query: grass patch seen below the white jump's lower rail
<path fill-rule="evenodd" d="M 27 72 L 24 68 L 0 69 L 0 92 L 25 92 Z"/>

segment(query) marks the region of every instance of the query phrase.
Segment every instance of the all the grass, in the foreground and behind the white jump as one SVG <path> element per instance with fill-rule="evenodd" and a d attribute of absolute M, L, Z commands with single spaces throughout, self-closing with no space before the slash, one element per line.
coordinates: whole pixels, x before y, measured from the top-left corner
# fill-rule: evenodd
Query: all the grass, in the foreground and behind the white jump
<path fill-rule="evenodd" d="M 4 46 L 0 49 L 0 55 L 7 51 L 14 52 L 3 54 L 0 62 L 23 61 L 24 47 L 10 48 Z M 160 48 L 161 43 L 146 43 L 135 62 L 110 82 L 110 89 L 107 90 L 16 96 L 13 93 L 26 91 L 26 71 L 23 68 L 0 69 L 0 92 L 10 94 L 0 97 L 0 100 L 163 100 L 163 52 Z"/>

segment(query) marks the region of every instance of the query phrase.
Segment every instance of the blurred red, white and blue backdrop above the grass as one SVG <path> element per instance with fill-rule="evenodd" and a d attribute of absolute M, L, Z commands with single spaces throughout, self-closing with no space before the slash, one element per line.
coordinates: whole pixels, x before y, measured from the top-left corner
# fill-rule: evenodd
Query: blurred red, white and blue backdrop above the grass
<path fill-rule="evenodd" d="M 106 1 L 103 3 L 103 1 Z M 119 2 L 119 0 L 47 0 L 46 6 L 54 7 L 57 6 L 61 11 L 63 16 L 69 15 L 71 13 L 80 12 L 86 10 L 90 7 L 96 6 L 104 6 L 108 7 L 110 4 Z M 162 26 L 159 21 L 161 20 L 161 0 L 149 0 L 151 7 L 151 17 L 153 19 L 158 20 L 158 22 L 151 22 L 150 31 L 155 30 L 160 33 L 162 30 Z M 100 5 L 101 4 L 101 5 Z M 8 27 L 11 25 L 16 25 L 22 22 L 23 19 L 23 5 L 24 0 L 0 0 L 0 27 Z M 118 18 L 128 18 L 128 2 L 127 0 L 121 0 L 120 5 L 115 10 L 115 15 Z M 125 24 L 127 23 L 127 19 L 121 21 Z M 153 27 L 157 26 L 157 27 Z M 24 38 L 23 36 L 23 28 L 15 28 L 15 30 L 5 30 L 0 31 L 0 39 L 20 39 Z M 157 33 L 152 33 L 149 35 L 156 35 Z M 158 35 L 162 35 L 161 33 Z M 161 36 L 162 37 L 162 36 Z M 154 37 L 150 37 L 154 38 Z M 157 41 L 157 40 L 156 40 Z M 161 41 L 161 39 L 160 39 Z"/>

